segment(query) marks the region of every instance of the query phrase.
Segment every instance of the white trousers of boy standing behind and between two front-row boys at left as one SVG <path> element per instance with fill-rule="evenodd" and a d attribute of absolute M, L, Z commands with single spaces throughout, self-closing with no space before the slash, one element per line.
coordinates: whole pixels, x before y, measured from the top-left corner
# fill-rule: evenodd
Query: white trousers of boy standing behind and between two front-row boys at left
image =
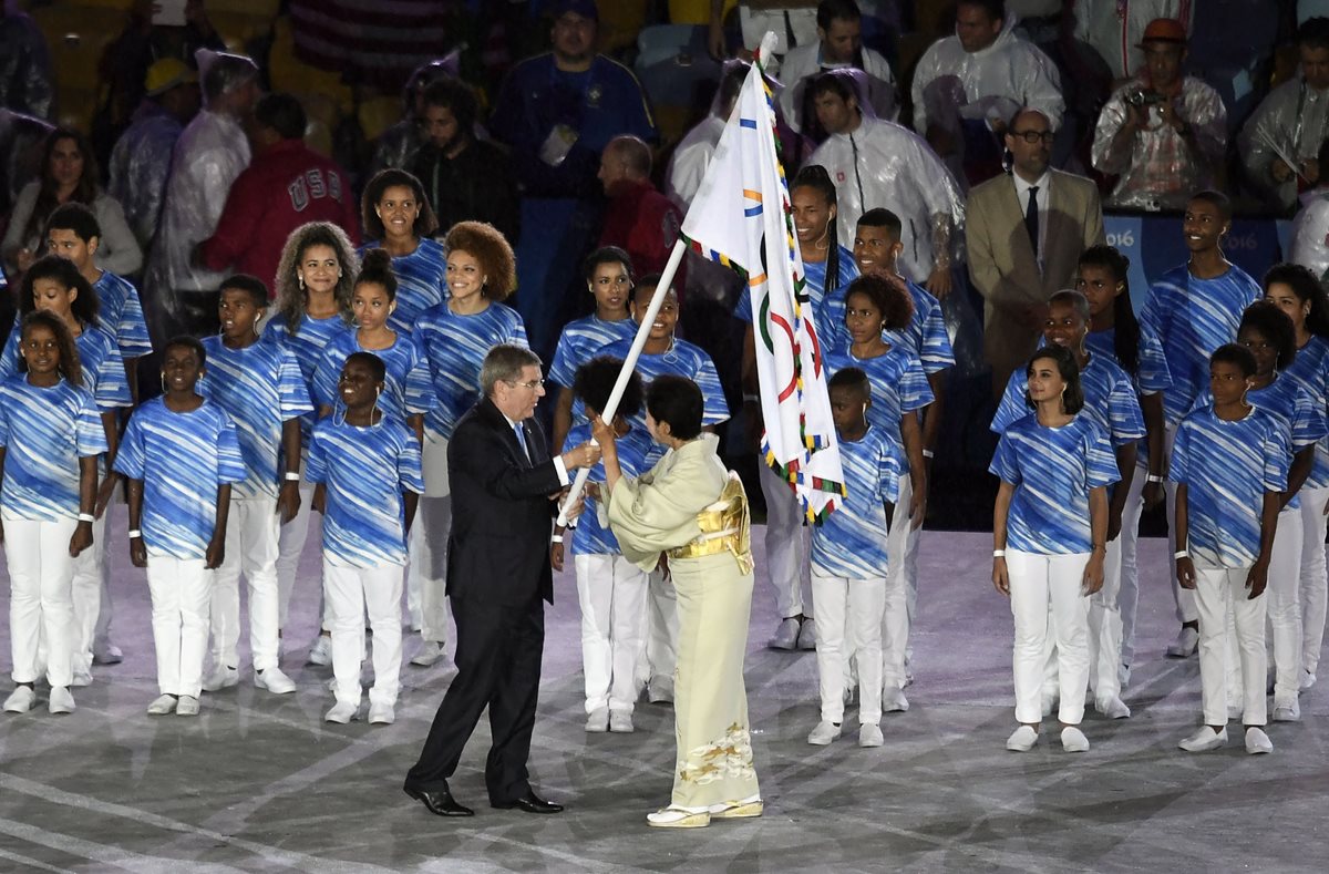
<path fill-rule="evenodd" d="M 280 628 L 276 554 L 282 519 L 268 497 L 231 498 L 226 557 L 213 572 L 213 664 L 238 667 L 241 642 L 241 574 L 249 582 L 250 654 L 254 669 L 276 667 Z"/>

